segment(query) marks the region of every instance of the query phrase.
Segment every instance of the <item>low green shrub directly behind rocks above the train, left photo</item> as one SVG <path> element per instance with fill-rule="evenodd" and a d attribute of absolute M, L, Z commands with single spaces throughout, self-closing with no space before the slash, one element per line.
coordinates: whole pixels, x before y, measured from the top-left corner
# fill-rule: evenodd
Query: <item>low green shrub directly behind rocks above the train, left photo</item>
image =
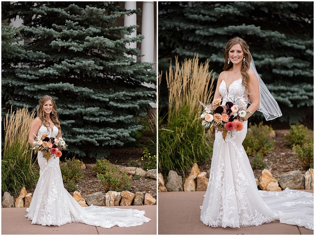
<path fill-rule="evenodd" d="M 108 168 L 105 174 L 97 174 L 101 184 L 111 191 L 121 192 L 131 187 L 131 176 L 126 172 L 120 172 L 116 166 Z"/>

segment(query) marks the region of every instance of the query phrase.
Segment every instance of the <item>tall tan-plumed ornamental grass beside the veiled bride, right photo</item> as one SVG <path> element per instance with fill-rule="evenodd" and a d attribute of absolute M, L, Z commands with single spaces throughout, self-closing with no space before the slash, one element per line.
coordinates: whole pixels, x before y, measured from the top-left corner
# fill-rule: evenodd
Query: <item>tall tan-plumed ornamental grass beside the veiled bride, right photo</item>
<path fill-rule="evenodd" d="M 181 65 L 176 58 L 175 69 L 170 64 L 166 72 L 168 113 L 159 118 L 158 124 L 158 164 L 164 175 L 169 170 L 184 175 L 193 163 L 211 158 L 212 144 L 201 126 L 198 111 L 202 106 L 198 100 L 206 104 L 212 101 L 214 79 L 209 61 L 199 64 L 198 56 L 185 59 Z M 159 83 L 161 80 L 162 72 Z"/>

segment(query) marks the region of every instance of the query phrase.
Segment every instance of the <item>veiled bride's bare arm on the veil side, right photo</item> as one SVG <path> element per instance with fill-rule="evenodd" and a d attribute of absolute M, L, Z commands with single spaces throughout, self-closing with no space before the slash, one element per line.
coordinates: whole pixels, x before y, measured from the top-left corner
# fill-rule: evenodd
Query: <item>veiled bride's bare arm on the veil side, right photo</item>
<path fill-rule="evenodd" d="M 253 114 L 259 108 L 260 104 L 259 82 L 254 72 L 249 70 L 247 73 L 249 75 L 248 91 L 251 104 L 246 111 L 252 112 Z M 247 118 L 252 114 L 249 114 Z"/>

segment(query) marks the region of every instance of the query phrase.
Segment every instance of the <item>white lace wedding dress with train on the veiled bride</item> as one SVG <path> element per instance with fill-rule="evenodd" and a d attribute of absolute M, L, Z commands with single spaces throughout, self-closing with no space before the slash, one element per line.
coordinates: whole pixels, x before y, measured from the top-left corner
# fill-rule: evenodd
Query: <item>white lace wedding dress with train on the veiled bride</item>
<path fill-rule="evenodd" d="M 225 105 L 227 98 L 243 98 L 248 104 L 248 95 L 242 79 L 234 81 L 226 89 L 220 84 L 219 91 Z M 261 225 L 280 220 L 281 223 L 313 227 L 313 193 L 287 188 L 284 191 L 258 191 L 254 173 L 242 146 L 247 132 L 247 121 L 233 138 L 226 141 L 221 132 L 215 133 L 209 183 L 200 220 L 212 227 L 241 227 Z"/>

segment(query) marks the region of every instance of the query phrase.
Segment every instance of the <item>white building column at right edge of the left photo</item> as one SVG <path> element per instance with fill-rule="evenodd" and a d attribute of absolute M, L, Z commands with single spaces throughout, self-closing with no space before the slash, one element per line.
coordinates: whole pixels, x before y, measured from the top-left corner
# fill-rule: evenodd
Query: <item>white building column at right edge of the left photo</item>
<path fill-rule="evenodd" d="M 141 61 L 154 62 L 154 2 L 142 3 Z"/>

